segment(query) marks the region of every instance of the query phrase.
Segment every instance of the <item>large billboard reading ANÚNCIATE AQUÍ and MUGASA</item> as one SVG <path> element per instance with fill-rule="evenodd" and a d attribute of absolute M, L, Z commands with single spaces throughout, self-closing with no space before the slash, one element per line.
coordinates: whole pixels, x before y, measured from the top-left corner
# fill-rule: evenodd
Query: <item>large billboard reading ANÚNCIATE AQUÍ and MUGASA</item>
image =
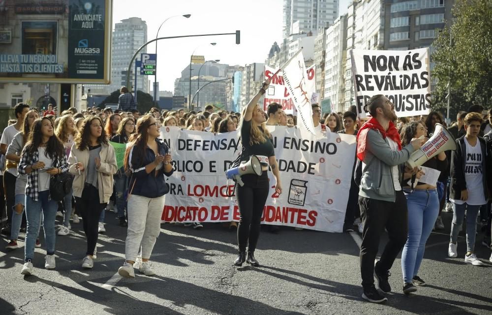
<path fill-rule="evenodd" d="M 0 82 L 109 83 L 112 0 L 4 0 Z"/>

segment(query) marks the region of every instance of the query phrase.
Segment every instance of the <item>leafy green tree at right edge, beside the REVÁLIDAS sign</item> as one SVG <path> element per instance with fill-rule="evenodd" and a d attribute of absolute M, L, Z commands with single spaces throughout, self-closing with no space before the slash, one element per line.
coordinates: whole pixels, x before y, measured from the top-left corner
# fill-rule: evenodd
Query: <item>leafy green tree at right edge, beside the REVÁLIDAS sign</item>
<path fill-rule="evenodd" d="M 432 108 L 447 107 L 449 83 L 450 116 L 456 117 L 470 105 L 492 105 L 492 1 L 457 0 L 452 12 L 454 20 L 432 44 L 431 78 L 437 82 Z"/>

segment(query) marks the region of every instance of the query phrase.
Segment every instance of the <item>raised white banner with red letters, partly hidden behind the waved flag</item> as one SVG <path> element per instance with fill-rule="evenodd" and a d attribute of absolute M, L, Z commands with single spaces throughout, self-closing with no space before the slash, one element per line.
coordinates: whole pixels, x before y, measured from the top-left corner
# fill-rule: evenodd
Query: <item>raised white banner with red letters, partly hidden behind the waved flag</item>
<path fill-rule="evenodd" d="M 271 79 L 270 86 L 268 87 L 267 93 L 265 93 L 265 98 L 263 99 L 263 110 L 267 111 L 268 105 L 270 103 L 278 103 L 282 105 L 282 109 L 286 114 L 295 114 L 294 102 L 292 101 L 292 97 L 290 96 L 287 87 L 285 86 L 285 81 L 283 79 L 282 71 L 278 72 L 277 75 L 274 76 L 274 73 L 277 69 L 271 68 L 269 66 L 265 66 L 265 79 Z M 319 99 L 319 96 L 316 95 L 316 69 L 315 65 L 307 68 L 307 95 L 311 101 Z M 312 102 L 313 103 L 313 102 Z"/>

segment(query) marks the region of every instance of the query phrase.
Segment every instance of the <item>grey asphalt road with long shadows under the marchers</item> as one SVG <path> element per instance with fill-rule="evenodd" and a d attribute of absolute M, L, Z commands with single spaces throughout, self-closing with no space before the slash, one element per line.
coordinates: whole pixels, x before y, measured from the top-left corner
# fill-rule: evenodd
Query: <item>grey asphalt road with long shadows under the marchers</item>
<path fill-rule="evenodd" d="M 136 270 L 129 280 L 116 274 L 126 229 L 108 212 L 92 270 L 81 268 L 82 223 L 73 224 L 69 236 L 57 236 L 55 270 L 44 269 L 46 252 L 36 249 L 29 277 L 20 274 L 24 248 L 6 252 L 2 238 L 0 314 L 492 314 L 490 249 L 478 236 L 476 254 L 486 266 L 465 264 L 462 232 L 459 257 L 448 258 L 452 214 L 443 216 L 447 229 L 432 233 L 419 273 L 428 286 L 404 295 L 398 258 L 393 292 L 378 305 L 361 298 L 357 233 L 262 232 L 255 253 L 261 267 L 238 268 L 232 266 L 235 233 L 221 224 L 202 230 L 164 224 L 152 257 L 157 275 Z"/>

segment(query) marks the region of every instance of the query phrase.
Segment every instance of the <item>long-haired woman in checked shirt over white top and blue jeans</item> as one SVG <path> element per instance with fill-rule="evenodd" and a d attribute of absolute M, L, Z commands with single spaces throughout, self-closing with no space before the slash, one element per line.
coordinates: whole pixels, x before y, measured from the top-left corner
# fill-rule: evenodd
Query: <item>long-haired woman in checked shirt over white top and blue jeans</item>
<path fill-rule="evenodd" d="M 43 214 L 43 230 L 46 239 L 46 257 L 44 267 L 54 269 L 55 264 L 55 218 L 58 204 L 51 199 L 51 176 L 66 172 L 65 149 L 57 138 L 53 122 L 43 117 L 36 119 L 29 133 L 26 146 L 22 150 L 19 174 L 27 175 L 26 184 L 26 218 L 28 222 L 25 263 L 21 273 L 31 275 L 33 272 L 34 246 Z"/>

